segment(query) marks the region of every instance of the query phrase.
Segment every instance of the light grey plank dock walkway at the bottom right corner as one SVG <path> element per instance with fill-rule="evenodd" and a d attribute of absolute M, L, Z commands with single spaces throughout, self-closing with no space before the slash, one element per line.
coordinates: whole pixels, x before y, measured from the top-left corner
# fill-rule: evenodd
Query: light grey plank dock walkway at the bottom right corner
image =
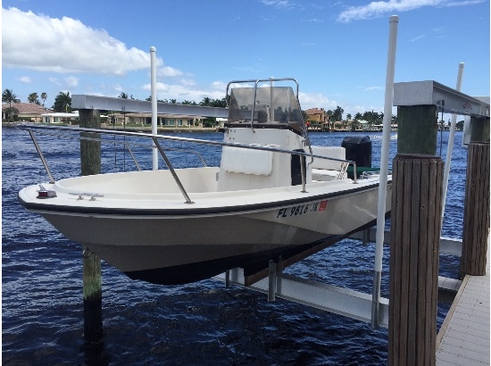
<path fill-rule="evenodd" d="M 437 365 L 489 365 L 489 238 L 486 276 L 469 276 L 437 339 Z M 439 341 L 439 343 L 438 343 Z"/>

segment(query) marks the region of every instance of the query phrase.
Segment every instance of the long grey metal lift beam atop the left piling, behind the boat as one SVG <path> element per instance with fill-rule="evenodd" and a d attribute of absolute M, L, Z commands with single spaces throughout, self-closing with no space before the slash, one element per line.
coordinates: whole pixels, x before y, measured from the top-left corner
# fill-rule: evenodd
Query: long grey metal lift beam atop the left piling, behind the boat
<path fill-rule="evenodd" d="M 108 96 L 71 96 L 71 107 L 74 109 L 96 109 L 103 111 L 151 113 L 152 102 L 136 99 L 112 98 Z M 228 108 L 207 107 L 203 105 L 157 103 L 158 114 L 175 114 L 196 117 L 229 117 Z"/>

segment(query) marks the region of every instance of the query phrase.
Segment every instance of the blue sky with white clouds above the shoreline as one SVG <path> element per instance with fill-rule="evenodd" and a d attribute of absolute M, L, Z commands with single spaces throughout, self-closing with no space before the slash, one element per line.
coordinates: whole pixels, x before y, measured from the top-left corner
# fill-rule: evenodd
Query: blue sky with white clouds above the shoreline
<path fill-rule="evenodd" d="M 395 82 L 435 80 L 489 96 L 489 0 L 4 0 L 2 90 L 225 97 L 230 80 L 295 78 L 302 109 L 383 112 L 389 17 Z M 43 101 L 40 100 L 42 103 Z M 393 109 L 395 112 L 395 109 Z"/>

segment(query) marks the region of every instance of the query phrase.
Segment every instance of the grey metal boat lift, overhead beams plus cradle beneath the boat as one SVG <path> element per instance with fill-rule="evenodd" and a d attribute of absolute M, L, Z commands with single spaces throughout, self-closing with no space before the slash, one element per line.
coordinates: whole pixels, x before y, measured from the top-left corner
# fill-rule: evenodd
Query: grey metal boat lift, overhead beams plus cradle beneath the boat
<path fill-rule="evenodd" d="M 392 22 L 394 21 L 392 20 Z M 387 66 L 387 68 L 390 67 Z M 387 83 L 390 83 L 390 76 L 387 77 Z M 390 91 L 388 94 L 390 97 Z M 434 104 L 437 105 L 440 111 L 445 108 L 445 112 L 454 114 L 488 117 L 489 103 L 481 99 L 466 96 L 460 91 L 445 87 L 436 81 L 404 82 L 394 84 L 394 101 L 390 102 L 387 108 L 390 111 L 392 105 Z M 72 106 L 79 109 L 154 112 L 154 105 L 151 102 L 103 96 L 74 95 L 72 96 Z M 226 108 L 183 104 L 158 103 L 156 111 L 158 113 L 207 115 L 211 117 L 226 117 L 228 115 L 228 109 Z M 391 113 L 388 112 L 385 115 L 390 116 Z M 384 159 L 387 159 L 387 156 Z M 359 233 L 352 233 L 352 237 L 364 243 L 369 241 L 378 242 L 378 249 L 376 250 L 378 259 L 376 259 L 377 263 L 374 270 L 374 272 L 378 272 L 381 271 L 381 248 L 383 245 L 387 245 L 387 232 L 384 230 L 380 231 L 377 235 L 378 239 L 374 237 L 375 232 L 374 229 L 365 229 Z M 372 328 L 377 328 L 378 326 L 387 327 L 388 299 L 380 297 L 379 293 L 369 295 L 351 289 L 321 284 L 306 279 L 298 279 L 282 272 L 287 265 L 301 261 L 307 256 L 317 253 L 343 238 L 330 238 L 327 242 L 307 252 L 296 254 L 291 258 L 279 259 L 278 262 L 270 262 L 269 265 L 257 270 L 254 276 L 245 276 L 244 269 L 235 269 L 222 274 L 218 278 L 224 280 L 226 286 L 237 284 L 267 293 L 270 301 L 274 301 L 275 297 L 279 296 L 299 304 L 334 312 L 356 320 L 370 322 Z M 462 241 L 441 238 L 440 253 L 460 255 L 461 251 Z M 377 290 L 379 286 L 378 277 L 378 274 L 374 275 L 374 293 L 379 292 Z M 438 279 L 439 298 L 451 299 L 456 294 L 460 284 L 461 281 L 459 280 L 440 277 Z M 379 310 L 373 312 L 374 306 L 379 306 Z"/>

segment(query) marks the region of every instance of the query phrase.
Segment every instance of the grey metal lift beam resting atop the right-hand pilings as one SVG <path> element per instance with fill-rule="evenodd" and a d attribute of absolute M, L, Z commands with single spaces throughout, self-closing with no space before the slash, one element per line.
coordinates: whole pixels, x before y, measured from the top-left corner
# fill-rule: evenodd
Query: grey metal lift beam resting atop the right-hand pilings
<path fill-rule="evenodd" d="M 433 80 L 394 84 L 395 106 L 437 105 L 445 113 L 489 117 L 489 103 L 485 99 L 467 96 Z"/>

